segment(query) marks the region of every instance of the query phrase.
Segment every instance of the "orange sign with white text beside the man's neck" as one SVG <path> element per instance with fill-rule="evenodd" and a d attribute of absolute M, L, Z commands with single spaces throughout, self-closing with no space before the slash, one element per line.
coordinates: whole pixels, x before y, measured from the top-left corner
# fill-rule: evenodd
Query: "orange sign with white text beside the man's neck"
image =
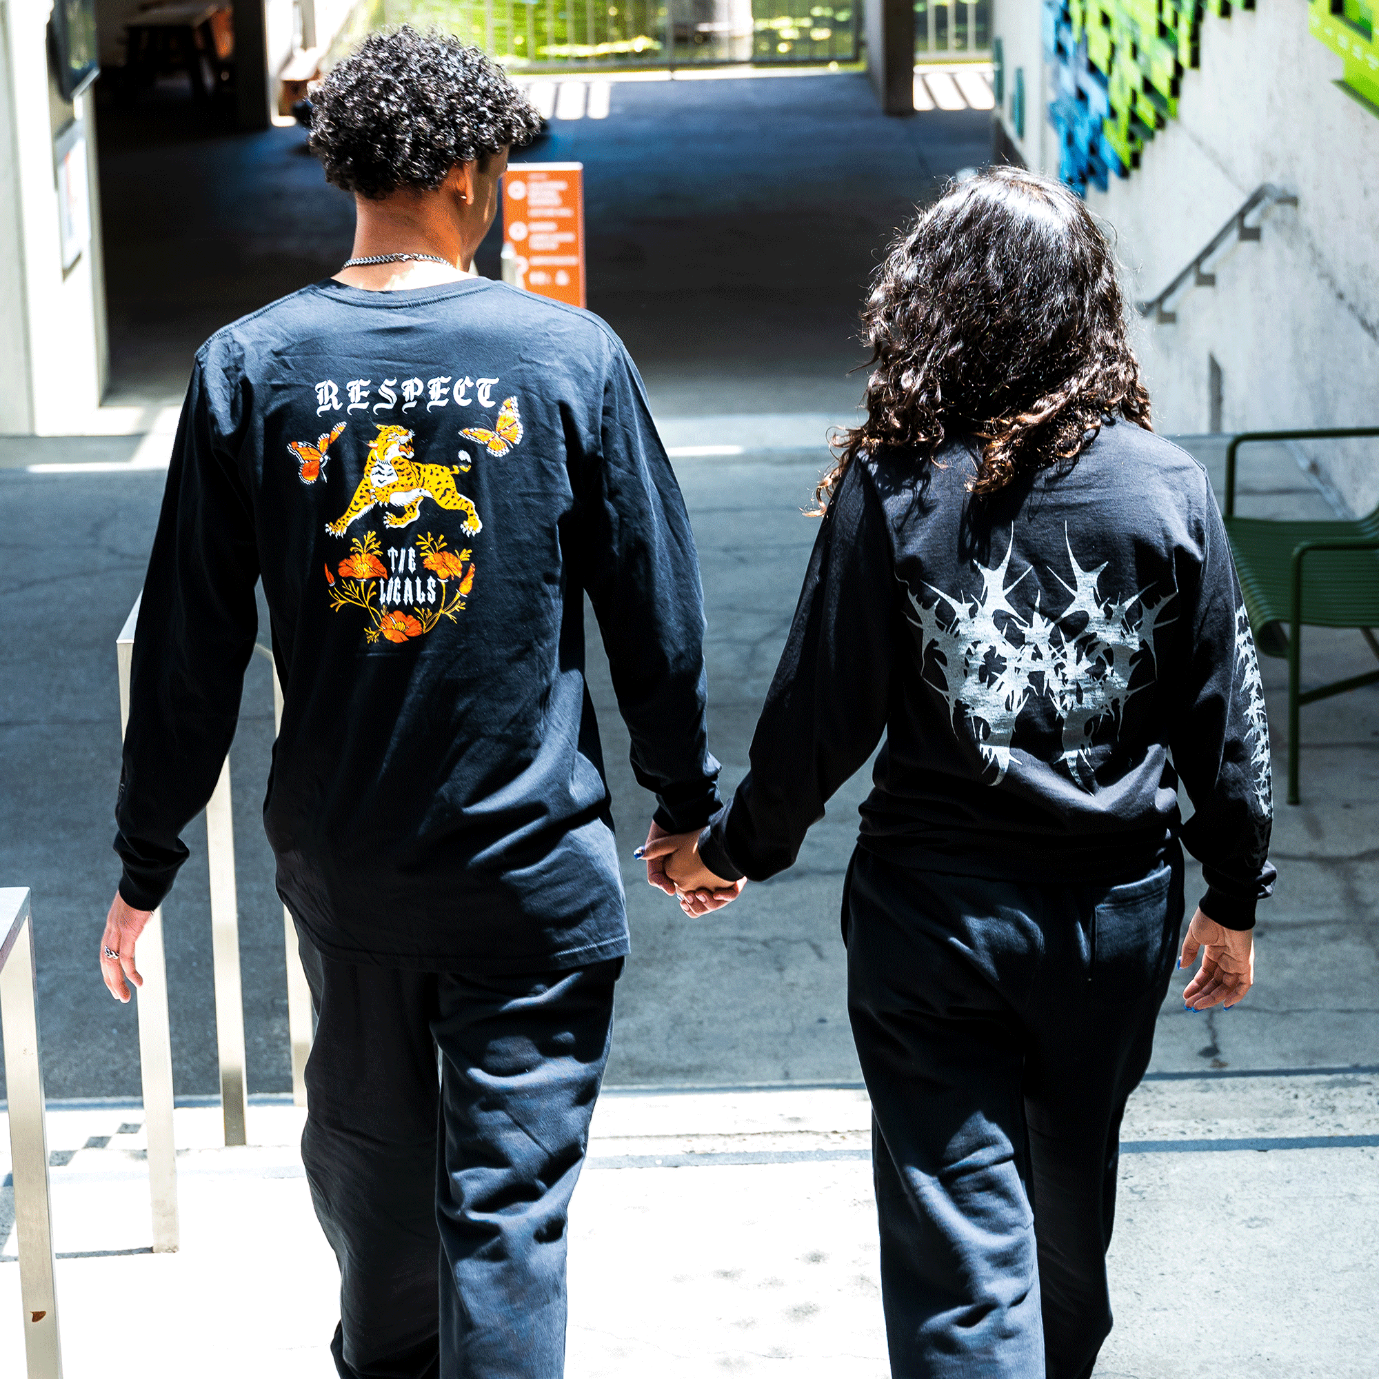
<path fill-rule="evenodd" d="M 503 281 L 585 305 L 583 163 L 512 163 L 503 178 Z"/>

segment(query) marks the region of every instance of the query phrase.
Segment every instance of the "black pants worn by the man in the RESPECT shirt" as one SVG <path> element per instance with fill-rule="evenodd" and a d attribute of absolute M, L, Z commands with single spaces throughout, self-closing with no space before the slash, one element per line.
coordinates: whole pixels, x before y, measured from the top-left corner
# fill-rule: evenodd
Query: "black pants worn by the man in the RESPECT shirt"
<path fill-rule="evenodd" d="M 341 1267 L 336 1369 L 560 1379 L 565 1215 L 622 958 L 410 972 L 298 932 L 317 1015 L 302 1161 Z"/>

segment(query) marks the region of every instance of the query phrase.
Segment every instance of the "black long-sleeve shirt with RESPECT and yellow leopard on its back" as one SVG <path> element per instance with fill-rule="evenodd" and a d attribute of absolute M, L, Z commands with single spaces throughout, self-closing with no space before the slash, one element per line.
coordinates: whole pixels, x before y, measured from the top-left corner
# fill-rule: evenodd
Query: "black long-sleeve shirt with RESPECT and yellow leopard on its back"
<path fill-rule="evenodd" d="M 585 592 L 658 822 L 720 801 L 694 538 L 616 336 L 483 279 L 327 281 L 203 346 L 135 636 L 116 851 L 139 909 L 234 734 L 259 578 L 265 826 L 313 942 L 474 972 L 626 953 Z"/>

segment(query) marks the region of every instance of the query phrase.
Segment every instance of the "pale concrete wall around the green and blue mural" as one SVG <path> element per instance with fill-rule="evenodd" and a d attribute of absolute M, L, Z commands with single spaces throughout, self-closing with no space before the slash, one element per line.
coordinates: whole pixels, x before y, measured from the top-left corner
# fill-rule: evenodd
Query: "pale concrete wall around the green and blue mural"
<path fill-rule="evenodd" d="M 1027 85 L 1031 167 L 1056 170 L 1041 6 L 1000 0 L 996 33 Z M 1340 91 L 1342 62 L 1307 29 L 1300 0 L 1258 0 L 1208 15 L 1201 66 L 1183 74 L 1178 119 L 1146 145 L 1140 167 L 1088 192 L 1116 232 L 1129 294 L 1157 295 L 1262 182 L 1298 196 L 1263 218 L 1258 243 L 1233 243 L 1215 288 L 1189 288 L 1176 324 L 1145 324 L 1139 348 L 1156 426 L 1202 432 L 1209 359 L 1220 365 L 1220 426 L 1379 425 L 1379 114 Z M 1029 83 L 1026 76 L 1026 83 Z M 1324 479 L 1356 512 L 1379 503 L 1379 447 L 1313 445 Z"/>

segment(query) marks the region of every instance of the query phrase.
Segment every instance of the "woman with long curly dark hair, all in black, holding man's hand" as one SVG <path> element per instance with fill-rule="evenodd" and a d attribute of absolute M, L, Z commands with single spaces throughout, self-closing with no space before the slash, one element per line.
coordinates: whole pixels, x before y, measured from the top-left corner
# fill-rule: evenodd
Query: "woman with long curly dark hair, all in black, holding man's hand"
<path fill-rule="evenodd" d="M 1150 429 L 1107 244 L 1066 186 L 958 182 L 865 310 L 866 419 L 692 914 L 789 867 L 873 753 L 843 896 L 898 1379 L 1088 1379 L 1125 1102 L 1175 956 L 1254 980 L 1269 731 L 1202 467 Z M 1179 812 L 1179 782 L 1194 811 Z M 1180 844 L 1207 891 L 1179 949 Z"/>

